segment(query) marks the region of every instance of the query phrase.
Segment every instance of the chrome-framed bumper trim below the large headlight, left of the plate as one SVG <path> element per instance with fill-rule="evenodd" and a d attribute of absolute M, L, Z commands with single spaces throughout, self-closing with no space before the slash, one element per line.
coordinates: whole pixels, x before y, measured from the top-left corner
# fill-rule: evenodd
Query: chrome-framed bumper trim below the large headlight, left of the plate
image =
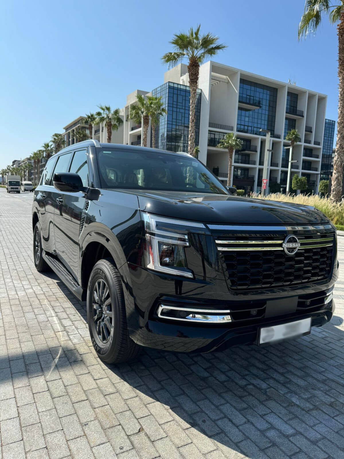
<path fill-rule="evenodd" d="M 182 311 L 190 313 L 189 316 L 184 318 L 181 317 L 172 317 L 168 315 L 161 315 L 164 309 L 172 309 L 173 311 Z M 223 324 L 232 322 L 229 309 L 198 309 L 198 308 L 179 308 L 176 306 L 166 306 L 164 304 L 159 305 L 157 308 L 157 315 L 161 319 L 168 320 L 182 320 L 184 322 L 198 322 L 198 323 L 207 323 L 207 324 Z M 192 313 L 192 315 L 191 315 Z"/>

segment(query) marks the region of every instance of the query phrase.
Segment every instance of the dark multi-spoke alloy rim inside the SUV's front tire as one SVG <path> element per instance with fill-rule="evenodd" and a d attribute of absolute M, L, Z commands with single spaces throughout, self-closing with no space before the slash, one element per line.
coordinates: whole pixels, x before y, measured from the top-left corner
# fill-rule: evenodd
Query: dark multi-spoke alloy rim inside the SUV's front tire
<path fill-rule="evenodd" d="M 92 299 L 95 330 L 100 341 L 106 343 L 111 336 L 113 314 L 109 287 L 104 279 L 99 279 L 95 283 Z"/>

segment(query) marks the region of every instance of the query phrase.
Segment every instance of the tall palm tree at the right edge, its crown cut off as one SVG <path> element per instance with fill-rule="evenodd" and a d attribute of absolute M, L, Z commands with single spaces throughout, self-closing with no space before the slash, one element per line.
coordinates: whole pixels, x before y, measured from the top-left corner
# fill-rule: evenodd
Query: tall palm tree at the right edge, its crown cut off
<path fill-rule="evenodd" d="M 314 35 L 322 20 L 327 15 L 331 24 L 337 25 L 338 35 L 338 121 L 336 152 L 333 160 L 331 200 L 340 202 L 342 199 L 343 165 L 344 165 L 344 0 L 339 5 L 331 5 L 329 0 L 306 0 L 305 10 L 298 28 L 299 40 Z"/>

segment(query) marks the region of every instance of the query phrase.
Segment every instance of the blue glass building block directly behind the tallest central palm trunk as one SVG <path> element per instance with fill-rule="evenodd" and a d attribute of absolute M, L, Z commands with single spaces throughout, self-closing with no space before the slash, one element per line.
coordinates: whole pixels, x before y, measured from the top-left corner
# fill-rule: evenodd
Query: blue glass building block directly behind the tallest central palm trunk
<path fill-rule="evenodd" d="M 189 139 L 189 86 L 167 82 L 152 91 L 167 111 L 160 117 L 155 129 L 155 147 L 167 151 L 188 152 Z M 195 145 L 200 137 L 201 90 L 197 90 L 195 109 Z M 152 144 L 151 144 L 152 146 Z"/>

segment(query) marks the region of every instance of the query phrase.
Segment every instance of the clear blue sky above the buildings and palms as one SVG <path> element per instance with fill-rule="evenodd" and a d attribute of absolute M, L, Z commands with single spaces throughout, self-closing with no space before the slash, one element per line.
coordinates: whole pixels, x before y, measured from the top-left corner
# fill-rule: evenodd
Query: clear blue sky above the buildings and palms
<path fill-rule="evenodd" d="M 100 103 L 122 107 L 163 83 L 173 33 L 201 24 L 228 45 L 214 60 L 328 95 L 337 120 L 337 35 L 327 18 L 298 42 L 303 0 L 4 2 L 0 168 L 28 156 Z"/>

